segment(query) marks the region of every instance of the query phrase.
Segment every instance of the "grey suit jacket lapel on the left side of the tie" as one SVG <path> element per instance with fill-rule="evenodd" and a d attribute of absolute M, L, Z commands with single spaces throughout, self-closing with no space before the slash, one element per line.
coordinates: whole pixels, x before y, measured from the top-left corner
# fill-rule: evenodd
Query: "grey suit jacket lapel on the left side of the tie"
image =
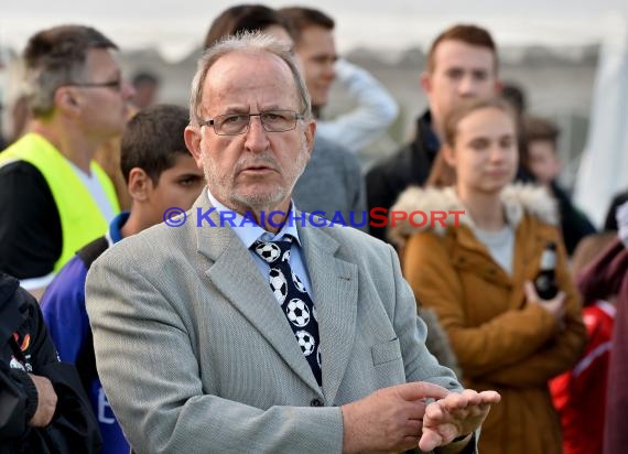
<path fill-rule="evenodd" d="M 197 204 L 193 207 L 192 215 L 195 223 L 197 206 L 201 206 L 204 213 L 212 207 L 205 192 L 197 199 Z M 290 368 L 321 393 L 321 388 L 288 325 L 285 315 L 250 252 L 229 227 L 219 227 L 219 216 L 216 212 L 209 217 L 218 227 L 204 224 L 203 227 L 196 228 L 197 250 L 213 262 L 205 271 L 205 275 L 266 337 Z"/>

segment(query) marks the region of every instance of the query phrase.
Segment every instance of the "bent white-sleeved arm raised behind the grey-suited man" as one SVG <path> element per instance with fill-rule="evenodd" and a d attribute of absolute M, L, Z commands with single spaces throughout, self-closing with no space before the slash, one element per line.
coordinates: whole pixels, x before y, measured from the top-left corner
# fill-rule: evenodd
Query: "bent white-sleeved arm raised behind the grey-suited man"
<path fill-rule="evenodd" d="M 336 74 L 357 107 L 334 120 L 317 121 L 317 132 L 357 153 L 388 129 L 399 107 L 383 85 L 359 66 L 338 61 Z"/>

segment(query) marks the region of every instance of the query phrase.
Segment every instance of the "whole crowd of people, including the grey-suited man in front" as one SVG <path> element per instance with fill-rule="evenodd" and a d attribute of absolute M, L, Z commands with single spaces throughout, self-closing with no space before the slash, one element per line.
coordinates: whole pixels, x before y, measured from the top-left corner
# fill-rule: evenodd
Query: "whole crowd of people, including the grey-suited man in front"
<path fill-rule="evenodd" d="M 365 172 L 399 109 L 334 29 L 228 8 L 186 107 L 94 28 L 30 39 L 0 151 L 0 453 L 628 444 L 626 194 L 596 233 L 474 24 L 433 41 L 413 139 Z M 326 118 L 333 84 L 353 104 Z"/>

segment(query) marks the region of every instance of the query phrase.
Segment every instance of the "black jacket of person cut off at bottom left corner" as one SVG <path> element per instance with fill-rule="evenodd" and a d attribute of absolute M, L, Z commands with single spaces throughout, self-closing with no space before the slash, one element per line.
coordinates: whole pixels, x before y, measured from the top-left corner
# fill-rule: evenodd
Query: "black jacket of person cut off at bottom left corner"
<path fill-rule="evenodd" d="M 29 372 L 51 380 L 52 422 L 31 428 L 37 392 Z M 99 453 L 100 433 L 74 366 L 61 363 L 35 299 L 0 272 L 0 454 Z"/>

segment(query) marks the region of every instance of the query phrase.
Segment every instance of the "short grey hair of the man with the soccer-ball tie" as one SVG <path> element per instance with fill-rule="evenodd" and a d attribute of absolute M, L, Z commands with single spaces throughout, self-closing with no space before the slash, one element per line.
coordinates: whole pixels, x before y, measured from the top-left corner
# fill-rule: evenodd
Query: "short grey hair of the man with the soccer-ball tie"
<path fill-rule="evenodd" d="M 270 35 L 261 32 L 242 32 L 236 35 L 229 35 L 208 47 L 201 60 L 194 79 L 192 80 L 192 90 L 190 94 L 190 123 L 198 125 L 203 121 L 201 114 L 201 102 L 203 99 L 203 86 L 209 68 L 223 56 L 230 53 L 246 54 L 271 54 L 280 57 L 290 68 L 294 85 L 296 86 L 297 98 L 301 111 L 305 119 L 312 118 L 312 101 L 310 93 L 303 79 L 303 75 L 299 69 L 299 65 L 294 55 L 288 45 L 284 45 Z"/>

